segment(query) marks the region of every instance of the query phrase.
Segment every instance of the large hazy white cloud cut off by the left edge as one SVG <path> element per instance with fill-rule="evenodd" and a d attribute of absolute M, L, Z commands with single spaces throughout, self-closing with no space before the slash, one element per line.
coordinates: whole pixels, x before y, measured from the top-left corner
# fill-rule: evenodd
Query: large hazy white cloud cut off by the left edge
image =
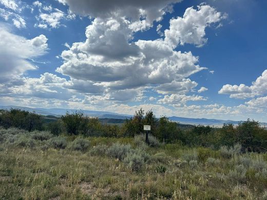
<path fill-rule="evenodd" d="M 15 35 L 5 27 L 0 28 L 0 84 L 16 84 L 27 70 L 36 69 L 28 59 L 41 56 L 48 48 L 47 38 L 40 35 L 32 39 Z M 17 84 L 21 84 L 18 81 Z"/>

